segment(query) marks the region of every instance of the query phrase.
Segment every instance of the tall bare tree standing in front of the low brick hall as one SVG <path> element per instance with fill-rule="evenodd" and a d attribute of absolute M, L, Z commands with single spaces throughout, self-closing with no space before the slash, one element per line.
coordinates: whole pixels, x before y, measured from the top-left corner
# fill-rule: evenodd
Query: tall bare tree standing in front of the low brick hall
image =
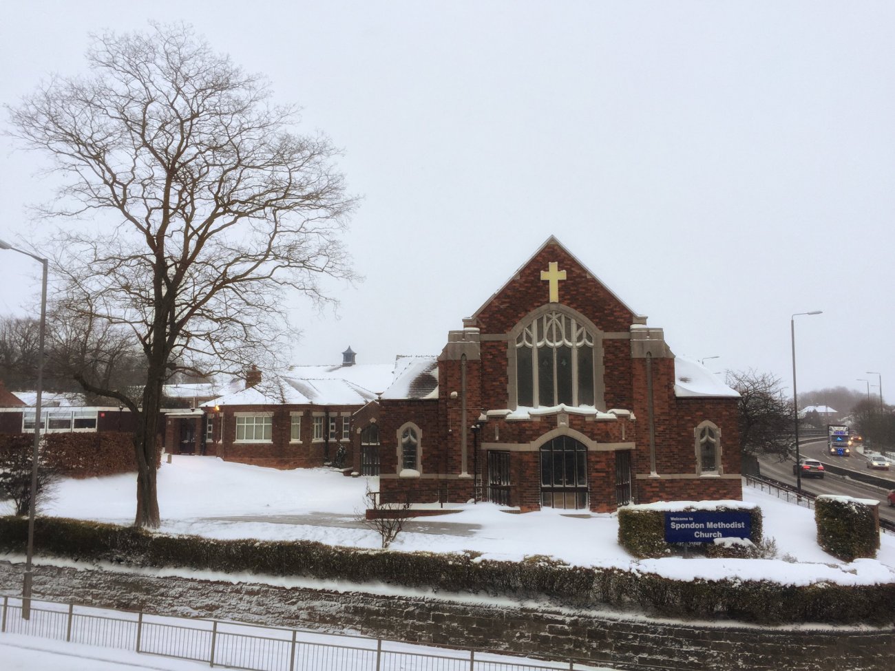
<path fill-rule="evenodd" d="M 63 176 L 44 214 L 95 219 L 56 236 L 56 300 L 140 344 L 141 395 L 89 371 L 79 381 L 136 414 L 134 523 L 158 527 L 162 385 L 178 369 L 276 361 L 284 290 L 327 302 L 320 276 L 353 276 L 340 234 L 355 202 L 331 142 L 295 134 L 296 110 L 192 29 L 104 34 L 87 60 L 89 76 L 55 77 L 11 108 L 12 134 Z"/>

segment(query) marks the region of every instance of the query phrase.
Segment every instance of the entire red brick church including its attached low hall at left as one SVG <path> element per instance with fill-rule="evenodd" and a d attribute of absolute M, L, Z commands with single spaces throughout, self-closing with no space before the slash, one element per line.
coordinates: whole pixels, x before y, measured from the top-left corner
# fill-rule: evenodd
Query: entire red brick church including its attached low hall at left
<path fill-rule="evenodd" d="M 438 356 L 297 366 L 166 420 L 175 444 L 278 468 L 379 476 L 384 503 L 614 511 L 739 499 L 737 393 L 675 357 L 550 237 Z M 255 371 L 256 373 L 258 371 Z M 204 419 L 203 419 L 204 418 Z M 192 450 L 192 446 L 191 446 Z"/>

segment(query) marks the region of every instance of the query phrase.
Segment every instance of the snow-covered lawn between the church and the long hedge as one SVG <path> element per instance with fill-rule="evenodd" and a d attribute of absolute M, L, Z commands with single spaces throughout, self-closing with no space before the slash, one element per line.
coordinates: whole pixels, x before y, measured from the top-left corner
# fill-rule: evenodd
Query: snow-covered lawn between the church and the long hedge
<path fill-rule="evenodd" d="M 358 522 L 364 491 L 378 479 L 346 478 L 337 471 L 277 471 L 213 457 L 174 456 L 158 471 L 160 531 L 209 538 L 310 539 L 332 545 L 379 548 L 379 535 Z M 99 522 L 132 523 L 133 474 L 64 480 L 44 514 Z M 409 523 L 392 549 L 459 552 L 486 558 L 546 555 L 574 565 L 618 566 L 682 579 L 771 579 L 791 584 L 895 582 L 895 536 L 882 535 L 876 559 L 850 564 L 826 554 L 815 540 L 814 511 L 746 488 L 760 505 L 764 536 L 775 539 L 779 558 L 766 560 L 669 557 L 636 560 L 618 546 L 614 514 L 580 516 L 558 510 L 509 514 L 498 505 L 451 504 L 459 512 Z M 0 504 L 0 514 L 7 514 Z M 431 507 L 438 507 L 432 505 Z M 573 511 L 574 512 L 574 511 Z"/>

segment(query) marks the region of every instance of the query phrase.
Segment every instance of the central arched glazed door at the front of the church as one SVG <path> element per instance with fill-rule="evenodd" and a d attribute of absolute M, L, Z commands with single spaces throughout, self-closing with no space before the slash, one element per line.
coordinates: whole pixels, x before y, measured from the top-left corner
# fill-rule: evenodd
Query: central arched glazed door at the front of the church
<path fill-rule="evenodd" d="M 541 505 L 587 508 L 587 447 L 568 436 L 541 446 Z"/>

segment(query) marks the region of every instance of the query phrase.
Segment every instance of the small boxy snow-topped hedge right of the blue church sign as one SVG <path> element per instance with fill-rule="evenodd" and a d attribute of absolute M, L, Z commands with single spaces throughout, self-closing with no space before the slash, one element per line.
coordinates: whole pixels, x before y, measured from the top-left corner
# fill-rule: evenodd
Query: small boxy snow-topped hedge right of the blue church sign
<path fill-rule="evenodd" d="M 814 499 L 817 544 L 844 562 L 874 558 L 880 548 L 879 503 L 823 494 Z"/>

